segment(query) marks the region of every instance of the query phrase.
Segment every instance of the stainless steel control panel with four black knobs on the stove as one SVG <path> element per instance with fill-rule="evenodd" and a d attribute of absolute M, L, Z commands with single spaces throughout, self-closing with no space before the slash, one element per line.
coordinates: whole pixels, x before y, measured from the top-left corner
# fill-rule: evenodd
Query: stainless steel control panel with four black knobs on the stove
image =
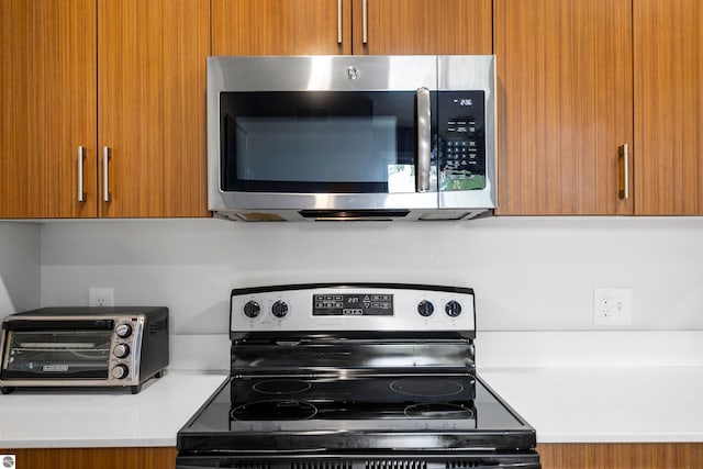
<path fill-rule="evenodd" d="M 473 291 L 415 284 L 292 284 L 235 289 L 232 332 L 476 330 Z"/>

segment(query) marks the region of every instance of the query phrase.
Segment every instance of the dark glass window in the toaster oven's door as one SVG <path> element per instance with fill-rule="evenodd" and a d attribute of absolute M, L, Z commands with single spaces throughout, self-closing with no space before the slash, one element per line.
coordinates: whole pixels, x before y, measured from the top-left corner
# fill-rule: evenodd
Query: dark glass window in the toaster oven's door
<path fill-rule="evenodd" d="M 10 331 L 3 378 L 105 379 L 112 331 Z"/>

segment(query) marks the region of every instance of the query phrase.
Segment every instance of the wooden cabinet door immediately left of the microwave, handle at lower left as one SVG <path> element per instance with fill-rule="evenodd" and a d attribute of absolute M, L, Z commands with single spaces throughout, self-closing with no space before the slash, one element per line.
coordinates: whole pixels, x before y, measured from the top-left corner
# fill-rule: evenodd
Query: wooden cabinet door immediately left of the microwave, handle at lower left
<path fill-rule="evenodd" d="M 101 216 L 209 215 L 209 0 L 99 0 Z"/>

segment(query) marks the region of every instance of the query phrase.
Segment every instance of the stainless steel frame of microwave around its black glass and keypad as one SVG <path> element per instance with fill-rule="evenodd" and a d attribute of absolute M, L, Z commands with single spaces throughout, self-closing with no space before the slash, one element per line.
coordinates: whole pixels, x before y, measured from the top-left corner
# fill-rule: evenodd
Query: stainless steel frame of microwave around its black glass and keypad
<path fill-rule="evenodd" d="M 349 79 L 349 71 L 355 79 Z M 358 72 L 358 74 L 357 74 Z M 378 220 L 468 220 L 495 208 L 495 62 L 493 56 L 250 56 L 208 57 L 208 203 L 230 220 L 314 221 L 303 210 L 378 211 Z M 486 90 L 484 190 L 436 192 L 276 193 L 224 192 L 220 181 L 222 91 Z M 423 181 L 424 185 L 424 181 Z M 426 187 L 426 186 L 425 186 Z M 438 210 L 439 209 L 439 210 Z M 383 211 L 406 210 L 406 215 Z M 361 217 L 360 220 L 369 220 Z"/>

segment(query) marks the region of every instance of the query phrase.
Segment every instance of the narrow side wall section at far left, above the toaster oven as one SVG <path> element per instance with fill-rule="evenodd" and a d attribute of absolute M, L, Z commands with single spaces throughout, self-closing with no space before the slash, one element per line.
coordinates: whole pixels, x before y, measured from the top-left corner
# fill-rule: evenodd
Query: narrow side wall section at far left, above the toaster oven
<path fill-rule="evenodd" d="M 0 317 L 40 306 L 41 226 L 0 222 Z"/>

